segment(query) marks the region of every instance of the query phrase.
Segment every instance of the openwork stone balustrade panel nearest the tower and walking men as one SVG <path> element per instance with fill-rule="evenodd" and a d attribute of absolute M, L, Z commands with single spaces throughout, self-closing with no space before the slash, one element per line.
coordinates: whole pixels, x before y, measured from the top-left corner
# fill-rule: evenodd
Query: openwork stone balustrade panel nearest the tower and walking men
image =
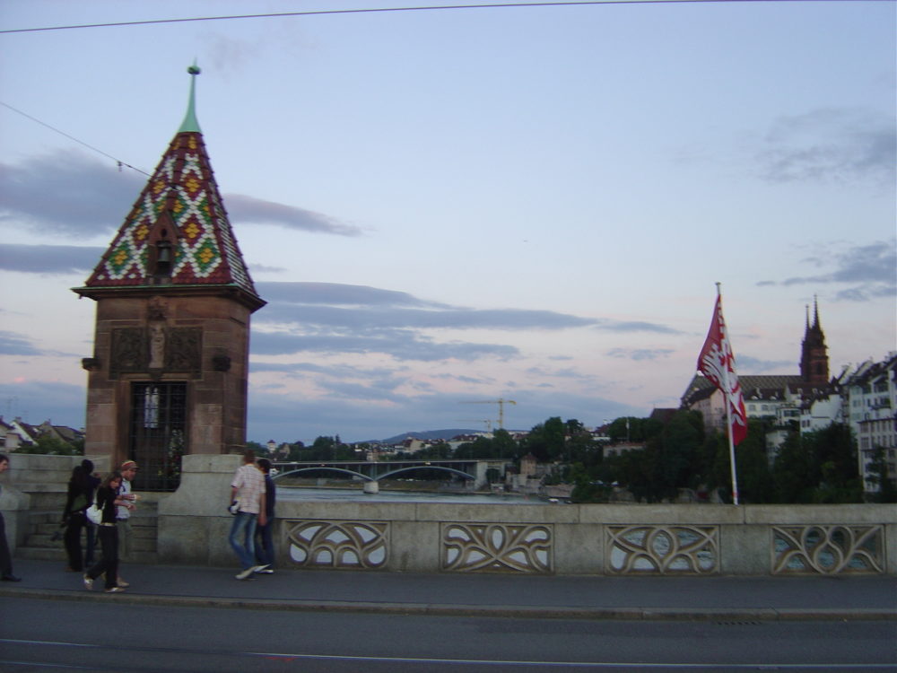
<path fill-rule="evenodd" d="M 290 559 L 308 568 L 377 570 L 389 553 L 388 521 L 288 520 Z"/>

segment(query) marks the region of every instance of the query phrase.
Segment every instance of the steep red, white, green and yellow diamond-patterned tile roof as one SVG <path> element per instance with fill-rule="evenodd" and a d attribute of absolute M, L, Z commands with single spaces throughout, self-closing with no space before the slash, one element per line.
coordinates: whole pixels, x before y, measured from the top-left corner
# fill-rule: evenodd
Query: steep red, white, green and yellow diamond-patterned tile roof
<path fill-rule="evenodd" d="M 172 253 L 165 284 L 230 285 L 258 297 L 198 130 L 174 136 L 86 286 L 158 284 L 152 267 L 161 240 Z"/>

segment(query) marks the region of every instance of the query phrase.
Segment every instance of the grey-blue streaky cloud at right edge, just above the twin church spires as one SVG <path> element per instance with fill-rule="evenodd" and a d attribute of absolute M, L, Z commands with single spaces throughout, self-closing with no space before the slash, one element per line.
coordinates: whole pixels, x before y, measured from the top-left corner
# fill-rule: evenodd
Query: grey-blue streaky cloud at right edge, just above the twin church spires
<path fill-rule="evenodd" d="M 816 275 L 795 275 L 758 285 L 851 284 L 834 294 L 835 301 L 868 302 L 897 294 L 897 239 L 855 245 L 843 250 L 822 250 L 801 260 L 825 269 Z"/>

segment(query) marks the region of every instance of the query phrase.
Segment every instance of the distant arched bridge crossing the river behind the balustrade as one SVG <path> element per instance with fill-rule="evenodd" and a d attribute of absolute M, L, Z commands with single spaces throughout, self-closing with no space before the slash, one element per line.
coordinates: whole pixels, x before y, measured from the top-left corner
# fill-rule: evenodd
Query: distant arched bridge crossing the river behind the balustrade
<path fill-rule="evenodd" d="M 446 459 L 446 460 L 315 460 L 302 462 L 276 462 L 277 475 L 274 479 L 282 479 L 284 476 L 302 476 L 311 472 L 327 470 L 362 479 L 366 482 L 365 490 L 377 492 L 377 483 L 382 479 L 392 479 L 397 476 L 410 478 L 414 472 L 422 469 L 440 470 L 447 476 L 460 476 L 468 480 L 473 489 L 483 488 L 488 484 L 486 473 L 495 469 L 504 476 L 505 468 L 513 462 L 506 459 Z"/>

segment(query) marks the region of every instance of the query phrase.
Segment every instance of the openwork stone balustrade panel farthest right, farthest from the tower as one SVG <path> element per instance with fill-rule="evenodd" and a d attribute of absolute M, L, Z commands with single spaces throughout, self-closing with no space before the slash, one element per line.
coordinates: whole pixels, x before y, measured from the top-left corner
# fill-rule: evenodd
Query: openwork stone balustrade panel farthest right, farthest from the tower
<path fill-rule="evenodd" d="M 772 574 L 884 572 L 884 527 L 772 527 Z"/>

